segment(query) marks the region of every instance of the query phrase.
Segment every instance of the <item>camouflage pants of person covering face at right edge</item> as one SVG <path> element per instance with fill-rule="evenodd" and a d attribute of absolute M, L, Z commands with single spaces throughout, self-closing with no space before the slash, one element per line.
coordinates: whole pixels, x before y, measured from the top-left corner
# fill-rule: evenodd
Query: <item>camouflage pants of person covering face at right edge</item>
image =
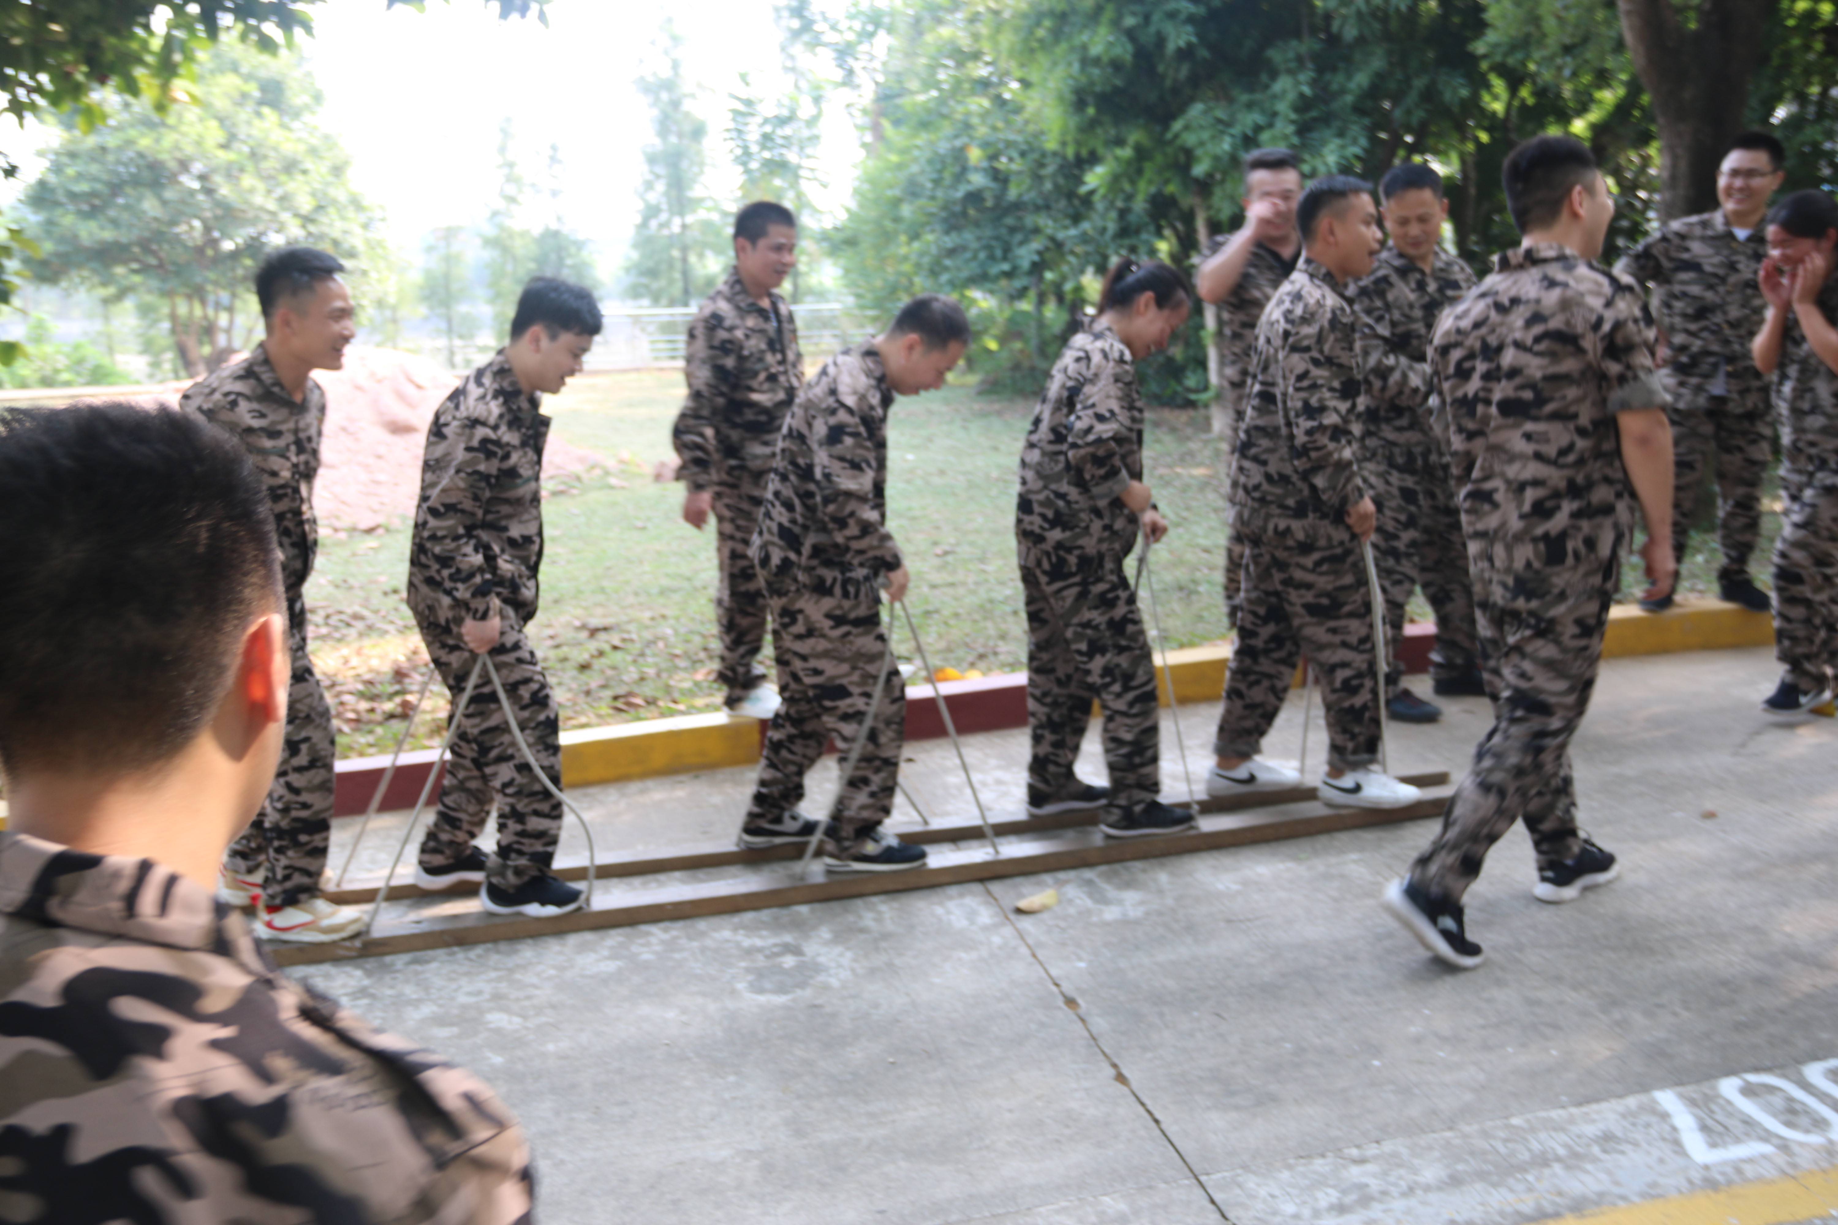
<path fill-rule="evenodd" d="M 1838 674 L 1838 489 L 1794 490 L 1781 514 L 1774 654 L 1803 692 Z"/>

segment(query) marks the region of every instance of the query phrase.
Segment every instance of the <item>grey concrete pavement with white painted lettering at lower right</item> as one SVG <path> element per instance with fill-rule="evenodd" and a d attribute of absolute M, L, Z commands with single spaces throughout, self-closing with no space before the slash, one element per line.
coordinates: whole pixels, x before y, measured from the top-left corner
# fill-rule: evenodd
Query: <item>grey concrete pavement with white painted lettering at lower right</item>
<path fill-rule="evenodd" d="M 1470 973 L 1377 905 L 1419 821 L 301 977 L 500 1087 L 544 1221 L 1520 1225 L 1774 1186 L 1838 1163 L 1838 724 L 1761 720 L 1770 654 L 1605 667 L 1575 764 L 1625 876 L 1538 904 L 1509 832 L 1469 896 Z M 1299 705 L 1270 755 L 1296 755 Z M 1393 727 L 1393 770 L 1467 766 L 1485 702 L 1447 705 Z M 1178 713 L 1197 773 L 1215 714 Z M 969 749 L 1018 808 L 1026 733 Z M 910 757 L 932 815 L 970 812 L 948 744 Z M 1180 793 L 1173 744 L 1163 777 Z M 577 801 L 603 845 L 720 841 L 750 779 Z M 1013 911 L 1049 883 L 1059 907 Z M 1682 1203 L 1641 1219 L 1812 1216 Z"/>

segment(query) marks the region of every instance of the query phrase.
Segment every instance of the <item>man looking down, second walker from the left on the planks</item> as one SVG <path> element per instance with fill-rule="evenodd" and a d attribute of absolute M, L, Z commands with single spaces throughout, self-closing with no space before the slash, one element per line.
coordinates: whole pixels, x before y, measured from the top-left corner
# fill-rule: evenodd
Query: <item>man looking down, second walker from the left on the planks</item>
<path fill-rule="evenodd" d="M 421 843 L 423 889 L 478 885 L 494 915 L 561 915 L 581 891 L 550 867 L 562 803 L 511 735 L 524 733 L 551 784 L 561 786 L 561 714 L 528 637 L 542 566 L 542 448 L 550 419 L 542 395 L 581 373 L 599 334 L 594 296 L 579 285 L 535 277 L 511 320 L 511 343 L 474 369 L 434 410 L 421 459 L 421 496 L 408 555 L 408 608 L 428 657 L 454 696 L 454 733 L 439 810 Z M 504 709 L 483 669 L 458 709 L 478 657 L 489 652 Z M 472 845 L 498 808 L 498 845 Z"/>

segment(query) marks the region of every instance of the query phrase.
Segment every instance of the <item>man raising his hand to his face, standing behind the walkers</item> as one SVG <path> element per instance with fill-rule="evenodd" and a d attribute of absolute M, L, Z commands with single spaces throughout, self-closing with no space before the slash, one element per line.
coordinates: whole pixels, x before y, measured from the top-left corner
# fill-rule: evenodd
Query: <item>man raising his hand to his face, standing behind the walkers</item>
<path fill-rule="evenodd" d="M 1250 391 L 1257 321 L 1301 259 L 1301 233 L 1296 230 L 1299 198 L 1301 163 L 1296 154 L 1257 149 L 1244 158 L 1244 224 L 1206 242 L 1195 264 L 1195 288 L 1213 309 L 1213 384 L 1219 391 L 1213 433 L 1220 437 L 1228 481 Z M 1242 569 L 1244 545 L 1231 534 L 1226 540 L 1226 621 L 1233 624 L 1239 619 Z"/>

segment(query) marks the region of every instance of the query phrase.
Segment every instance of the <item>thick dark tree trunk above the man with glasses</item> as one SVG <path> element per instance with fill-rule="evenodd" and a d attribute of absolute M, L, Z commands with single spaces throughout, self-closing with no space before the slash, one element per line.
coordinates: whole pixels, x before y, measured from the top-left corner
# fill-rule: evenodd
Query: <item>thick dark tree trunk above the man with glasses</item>
<path fill-rule="evenodd" d="M 1742 130 L 1763 31 L 1779 0 L 1617 0 L 1634 72 L 1660 129 L 1660 219 L 1717 208 L 1717 163 Z"/>

